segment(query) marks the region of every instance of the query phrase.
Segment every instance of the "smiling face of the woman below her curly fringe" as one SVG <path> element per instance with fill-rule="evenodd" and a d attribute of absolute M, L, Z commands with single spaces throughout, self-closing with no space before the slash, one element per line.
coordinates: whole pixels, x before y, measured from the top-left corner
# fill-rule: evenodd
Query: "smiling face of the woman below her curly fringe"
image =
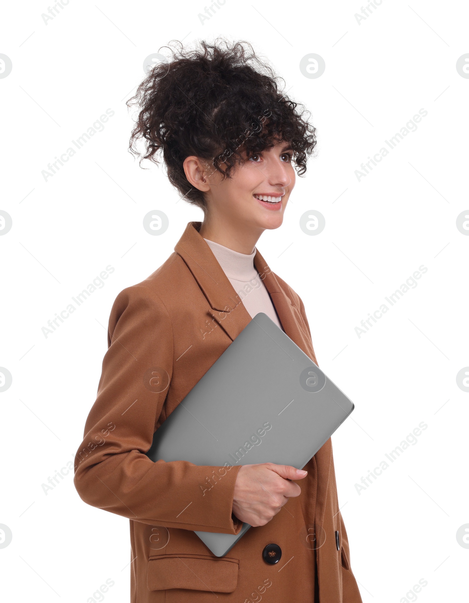
<path fill-rule="evenodd" d="M 205 192 L 209 212 L 242 226 L 276 229 L 295 185 L 290 144 L 280 142 L 235 166 L 230 178 L 214 171 Z"/>

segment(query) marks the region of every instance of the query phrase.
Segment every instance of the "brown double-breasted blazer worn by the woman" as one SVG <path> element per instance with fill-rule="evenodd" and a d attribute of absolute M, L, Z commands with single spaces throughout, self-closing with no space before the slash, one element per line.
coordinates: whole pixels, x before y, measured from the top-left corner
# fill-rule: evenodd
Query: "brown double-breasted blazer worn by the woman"
<path fill-rule="evenodd" d="M 251 320 L 199 228 L 189 223 L 175 253 L 117 295 L 98 396 L 76 453 L 76 490 L 88 504 L 130 519 L 132 603 L 311 602 L 315 579 L 316 603 L 361 603 L 331 440 L 305 467 L 300 496 L 222 558 L 193 531 L 240 531 L 232 514 L 240 467 L 223 473 L 144 455 L 155 430 Z M 285 332 L 317 362 L 302 300 L 259 251 L 254 262 Z M 282 549 L 275 565 L 262 559 L 270 543 Z"/>

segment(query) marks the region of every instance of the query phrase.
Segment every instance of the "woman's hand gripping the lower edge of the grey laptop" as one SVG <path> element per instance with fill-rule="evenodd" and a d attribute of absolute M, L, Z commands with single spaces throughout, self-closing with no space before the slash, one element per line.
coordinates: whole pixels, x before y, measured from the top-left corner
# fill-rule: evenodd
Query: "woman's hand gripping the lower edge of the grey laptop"
<path fill-rule="evenodd" d="M 234 487 L 233 513 L 249 525 L 266 525 L 291 496 L 301 493 L 299 485 L 290 480 L 303 479 L 306 475 L 307 471 L 289 465 L 241 466 Z"/>

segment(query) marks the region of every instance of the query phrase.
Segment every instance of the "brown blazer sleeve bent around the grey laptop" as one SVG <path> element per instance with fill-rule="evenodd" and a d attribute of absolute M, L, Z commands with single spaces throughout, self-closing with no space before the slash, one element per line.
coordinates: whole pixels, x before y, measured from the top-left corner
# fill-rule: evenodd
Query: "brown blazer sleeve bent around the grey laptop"
<path fill-rule="evenodd" d="M 124 289 L 111 311 L 98 395 L 75 456 L 76 490 L 87 504 L 138 522 L 237 534 L 242 522 L 232 502 L 240 466 L 154 463 L 145 455 L 172 366 L 172 325 L 163 302 L 146 286 Z"/>

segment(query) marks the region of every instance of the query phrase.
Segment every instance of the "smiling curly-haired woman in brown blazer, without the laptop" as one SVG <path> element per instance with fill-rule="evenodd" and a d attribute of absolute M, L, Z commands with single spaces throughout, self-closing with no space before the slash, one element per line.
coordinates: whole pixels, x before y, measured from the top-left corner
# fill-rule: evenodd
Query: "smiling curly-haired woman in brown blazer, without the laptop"
<path fill-rule="evenodd" d="M 214 595 L 359 603 L 331 440 L 305 471 L 266 463 L 221 475 L 145 455 L 155 430 L 257 312 L 317 362 L 302 300 L 255 247 L 264 230 L 281 226 L 315 128 L 246 43 L 172 52 L 137 90 L 130 148 L 136 153 L 143 137 L 144 158 L 156 161 L 161 151 L 170 182 L 204 219 L 189 223 L 175 253 L 114 302 L 76 489 L 88 504 L 130 519 L 132 603 Z M 237 534 L 243 522 L 255 527 L 222 558 L 194 534 Z"/>

